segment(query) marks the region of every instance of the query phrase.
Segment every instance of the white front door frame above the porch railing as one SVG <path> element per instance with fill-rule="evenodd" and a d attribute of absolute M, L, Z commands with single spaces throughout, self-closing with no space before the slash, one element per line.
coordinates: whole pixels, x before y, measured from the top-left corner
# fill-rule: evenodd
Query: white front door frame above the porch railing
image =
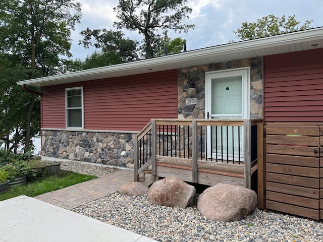
<path fill-rule="evenodd" d="M 250 118 L 250 68 L 236 68 L 205 73 L 205 118 L 211 110 L 211 78 L 242 77 L 242 119 Z"/>

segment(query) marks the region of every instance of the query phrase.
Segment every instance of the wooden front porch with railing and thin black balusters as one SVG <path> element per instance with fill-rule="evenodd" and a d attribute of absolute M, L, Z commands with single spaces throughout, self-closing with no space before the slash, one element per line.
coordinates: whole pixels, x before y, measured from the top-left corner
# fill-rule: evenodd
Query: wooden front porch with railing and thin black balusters
<path fill-rule="evenodd" d="M 251 188 L 262 135 L 260 119 L 152 119 L 136 137 L 134 180 L 149 172 L 154 179 Z"/>

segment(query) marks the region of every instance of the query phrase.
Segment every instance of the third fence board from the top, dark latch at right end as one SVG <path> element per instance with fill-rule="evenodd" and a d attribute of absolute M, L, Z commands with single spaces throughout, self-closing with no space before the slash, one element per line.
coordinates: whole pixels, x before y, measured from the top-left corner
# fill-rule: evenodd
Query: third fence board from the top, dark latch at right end
<path fill-rule="evenodd" d="M 300 155 L 318 157 L 318 147 L 301 147 L 301 146 L 289 146 L 289 145 L 271 145 L 267 144 L 267 153 L 283 154 L 283 155 Z"/>

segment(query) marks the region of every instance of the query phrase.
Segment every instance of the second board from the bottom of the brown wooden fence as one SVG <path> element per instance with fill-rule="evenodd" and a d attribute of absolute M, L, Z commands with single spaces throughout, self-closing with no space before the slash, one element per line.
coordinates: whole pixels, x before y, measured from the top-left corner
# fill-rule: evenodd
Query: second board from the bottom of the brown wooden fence
<path fill-rule="evenodd" d="M 266 198 L 268 200 L 273 200 L 276 202 L 288 203 L 296 206 L 318 209 L 318 199 L 303 198 L 299 196 L 276 193 L 271 191 L 268 191 L 266 193 Z"/>

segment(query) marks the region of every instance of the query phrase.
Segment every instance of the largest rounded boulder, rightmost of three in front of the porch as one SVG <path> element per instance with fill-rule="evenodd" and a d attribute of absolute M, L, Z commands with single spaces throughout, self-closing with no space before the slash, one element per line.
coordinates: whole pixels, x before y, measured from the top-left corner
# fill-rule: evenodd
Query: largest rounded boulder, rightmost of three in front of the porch
<path fill-rule="evenodd" d="M 257 207 L 254 191 L 229 184 L 217 184 L 198 198 L 197 210 L 214 221 L 236 221 L 252 214 Z"/>

